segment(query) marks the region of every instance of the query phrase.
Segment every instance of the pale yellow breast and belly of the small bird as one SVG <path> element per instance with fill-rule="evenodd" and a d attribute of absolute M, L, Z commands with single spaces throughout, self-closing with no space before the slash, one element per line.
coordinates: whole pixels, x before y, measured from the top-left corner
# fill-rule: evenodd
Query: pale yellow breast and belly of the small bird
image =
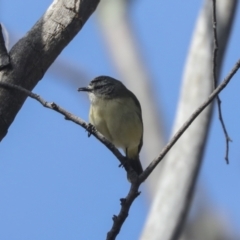
<path fill-rule="evenodd" d="M 92 102 L 90 122 L 116 147 L 132 149 L 138 154 L 143 134 L 141 111 L 131 99 L 115 99 Z"/>

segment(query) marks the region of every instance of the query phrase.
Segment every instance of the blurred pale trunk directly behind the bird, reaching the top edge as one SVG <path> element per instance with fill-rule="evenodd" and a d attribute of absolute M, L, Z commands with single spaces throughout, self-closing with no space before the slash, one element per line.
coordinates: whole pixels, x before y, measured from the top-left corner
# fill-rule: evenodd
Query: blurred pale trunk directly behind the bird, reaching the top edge
<path fill-rule="evenodd" d="M 131 1 L 102 0 L 98 13 L 98 22 L 106 47 L 116 67 L 120 79 L 133 90 L 141 102 L 143 123 L 147 126 L 143 139 L 143 165 L 147 166 L 159 149 L 165 144 L 163 118 L 160 118 L 160 106 L 156 99 L 156 91 L 152 86 L 152 79 L 141 55 L 141 47 L 137 42 L 134 29 L 129 19 L 129 5 Z M 156 192 L 156 181 L 159 176 L 158 167 L 146 184 L 150 198 Z"/>

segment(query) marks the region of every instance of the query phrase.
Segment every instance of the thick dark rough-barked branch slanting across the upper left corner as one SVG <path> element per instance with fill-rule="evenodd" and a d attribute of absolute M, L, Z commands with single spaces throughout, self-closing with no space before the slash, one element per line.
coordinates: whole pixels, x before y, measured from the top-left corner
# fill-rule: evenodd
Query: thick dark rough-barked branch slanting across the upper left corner
<path fill-rule="evenodd" d="M 11 49 L 11 69 L 0 72 L 2 82 L 33 89 L 64 47 L 81 30 L 100 0 L 55 0 L 33 28 Z M 0 141 L 21 109 L 26 95 L 0 89 Z"/>

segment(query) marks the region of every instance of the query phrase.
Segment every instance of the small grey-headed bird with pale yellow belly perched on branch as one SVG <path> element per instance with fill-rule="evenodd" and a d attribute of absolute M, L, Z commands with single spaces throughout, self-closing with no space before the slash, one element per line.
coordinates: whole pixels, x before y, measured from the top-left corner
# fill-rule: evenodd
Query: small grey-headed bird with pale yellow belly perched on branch
<path fill-rule="evenodd" d="M 87 87 L 89 120 L 115 147 L 123 149 L 133 170 L 143 172 L 139 152 L 143 144 L 141 105 L 122 82 L 108 76 L 94 78 Z"/>

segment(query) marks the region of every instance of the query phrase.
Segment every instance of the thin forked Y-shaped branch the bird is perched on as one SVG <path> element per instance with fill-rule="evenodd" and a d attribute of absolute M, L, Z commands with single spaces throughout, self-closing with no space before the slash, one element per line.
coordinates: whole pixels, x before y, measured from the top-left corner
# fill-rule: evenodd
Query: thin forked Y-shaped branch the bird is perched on
<path fill-rule="evenodd" d="M 237 61 L 233 69 L 230 71 L 228 76 L 224 79 L 224 81 L 211 93 L 211 95 L 208 97 L 208 99 L 203 102 L 199 108 L 190 116 L 190 118 L 183 124 L 183 126 L 178 130 L 178 132 L 173 136 L 173 138 L 170 140 L 170 142 L 165 146 L 165 148 L 162 150 L 162 152 L 159 154 L 159 156 L 154 159 L 149 166 L 143 171 L 143 173 L 138 177 L 134 178 L 134 181 L 131 182 L 131 187 L 128 192 L 128 195 L 126 198 L 121 199 L 121 209 L 119 214 L 116 216 L 113 216 L 113 225 L 111 230 L 107 234 L 107 240 L 114 240 L 116 236 L 118 235 L 119 231 L 121 230 L 121 227 L 126 220 L 129 209 L 133 203 L 133 201 L 136 199 L 136 197 L 140 194 L 138 189 L 139 186 L 143 181 L 146 180 L 146 178 L 150 175 L 150 173 L 154 170 L 154 168 L 159 164 L 159 162 L 164 158 L 164 156 L 168 153 L 168 151 L 172 148 L 172 146 L 177 142 L 177 140 L 181 137 L 181 135 L 186 131 L 186 129 L 191 125 L 191 123 L 197 118 L 197 116 L 213 101 L 215 97 L 227 86 L 227 84 L 230 82 L 234 74 L 238 71 L 240 68 L 240 60 Z M 39 95 L 34 94 L 20 86 L 16 86 L 10 83 L 5 83 L 0 81 L 0 86 L 5 88 L 12 88 L 19 90 L 25 94 L 27 94 L 29 97 L 36 99 L 38 102 L 40 102 L 44 107 L 50 108 L 54 111 L 59 112 L 60 114 L 64 115 L 66 119 L 71 120 L 75 122 L 76 124 L 82 126 L 87 131 L 90 131 L 98 140 L 100 140 L 112 153 L 119 159 L 121 163 L 125 163 L 125 158 L 121 155 L 121 153 L 109 142 L 107 141 L 103 135 L 101 135 L 98 131 L 94 130 L 92 131 L 89 129 L 89 125 L 84 122 L 79 117 L 76 117 L 75 115 L 67 112 L 60 106 L 58 106 L 55 103 L 49 103 L 46 102 L 43 98 L 41 98 Z"/>

